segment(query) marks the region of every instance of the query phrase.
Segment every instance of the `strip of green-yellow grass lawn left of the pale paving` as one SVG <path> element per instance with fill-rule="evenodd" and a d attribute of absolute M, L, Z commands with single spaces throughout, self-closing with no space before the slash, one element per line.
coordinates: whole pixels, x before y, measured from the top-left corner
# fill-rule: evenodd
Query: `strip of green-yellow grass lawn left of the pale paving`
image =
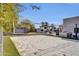
<path fill-rule="evenodd" d="M 9 36 L 4 36 L 3 40 L 3 55 L 4 56 L 20 56 L 15 45 Z"/>

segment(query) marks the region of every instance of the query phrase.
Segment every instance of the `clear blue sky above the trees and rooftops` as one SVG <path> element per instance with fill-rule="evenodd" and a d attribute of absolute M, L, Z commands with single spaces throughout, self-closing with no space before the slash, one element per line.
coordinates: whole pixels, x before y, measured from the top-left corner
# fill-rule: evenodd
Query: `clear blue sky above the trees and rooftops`
<path fill-rule="evenodd" d="M 32 3 L 31 3 L 32 4 Z M 50 24 L 63 24 L 63 19 L 79 16 L 79 4 L 33 3 L 40 10 L 32 10 L 30 3 L 22 4 L 25 9 L 20 12 L 20 20 L 29 19 L 33 23 L 47 21 Z"/>

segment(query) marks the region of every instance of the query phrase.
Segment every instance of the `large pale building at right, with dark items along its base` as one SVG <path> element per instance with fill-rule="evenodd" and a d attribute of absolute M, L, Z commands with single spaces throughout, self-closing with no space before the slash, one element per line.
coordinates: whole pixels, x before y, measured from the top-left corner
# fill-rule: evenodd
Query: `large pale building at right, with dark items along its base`
<path fill-rule="evenodd" d="M 77 29 L 76 33 L 75 28 Z M 63 30 L 62 33 L 60 33 L 60 36 L 79 38 L 79 16 L 65 18 L 63 20 Z"/>

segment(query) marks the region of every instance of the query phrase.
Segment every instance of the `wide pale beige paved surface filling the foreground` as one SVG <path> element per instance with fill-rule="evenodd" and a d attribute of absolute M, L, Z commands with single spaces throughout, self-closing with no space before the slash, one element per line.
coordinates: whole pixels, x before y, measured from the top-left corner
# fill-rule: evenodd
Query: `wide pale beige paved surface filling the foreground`
<path fill-rule="evenodd" d="M 23 56 L 79 56 L 79 40 L 31 35 L 11 37 Z"/>

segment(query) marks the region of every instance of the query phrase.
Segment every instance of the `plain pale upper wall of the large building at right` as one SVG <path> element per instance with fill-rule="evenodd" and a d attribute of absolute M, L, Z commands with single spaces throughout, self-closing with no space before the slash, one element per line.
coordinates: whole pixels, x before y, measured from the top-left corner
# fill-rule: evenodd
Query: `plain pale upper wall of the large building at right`
<path fill-rule="evenodd" d="M 65 19 L 63 22 L 63 31 L 64 32 L 74 32 L 75 24 L 77 24 L 79 28 L 79 17 L 78 18 L 70 18 Z"/>

